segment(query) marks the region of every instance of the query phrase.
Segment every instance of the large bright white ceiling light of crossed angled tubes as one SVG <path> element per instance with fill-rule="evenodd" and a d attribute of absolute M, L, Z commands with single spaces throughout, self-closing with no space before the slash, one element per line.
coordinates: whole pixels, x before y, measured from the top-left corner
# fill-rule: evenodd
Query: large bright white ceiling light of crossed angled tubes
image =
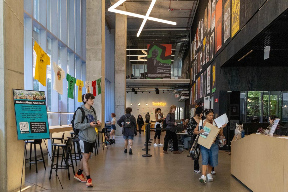
<path fill-rule="evenodd" d="M 119 5 L 121 5 L 122 3 L 124 3 L 126 0 L 119 0 L 117 3 L 115 3 L 114 5 L 112 5 L 111 7 L 108 8 L 108 11 L 110 12 L 114 12 L 114 13 L 119 13 L 119 14 L 123 14 L 123 15 L 128 15 L 128 16 L 132 16 L 132 17 L 138 17 L 138 18 L 142 18 L 144 19 L 142 24 L 141 24 L 141 27 L 137 33 L 137 37 L 139 37 L 145 23 L 147 20 L 152 20 L 152 21 L 157 21 L 157 22 L 161 22 L 161 23 L 166 23 L 166 24 L 171 24 L 171 25 L 176 25 L 177 23 L 176 22 L 172 22 L 172 21 L 167 21 L 167 20 L 164 20 L 164 19 L 158 19 L 158 18 L 154 18 L 154 17 L 149 17 L 149 14 L 151 13 L 152 11 L 152 8 L 156 2 L 156 0 L 152 0 L 151 4 L 150 4 L 150 7 L 146 13 L 146 15 L 140 15 L 140 14 L 135 14 L 135 13 L 131 13 L 131 12 L 127 12 L 127 11 L 122 11 L 122 10 L 119 10 L 119 9 L 115 9 L 117 8 Z"/>

